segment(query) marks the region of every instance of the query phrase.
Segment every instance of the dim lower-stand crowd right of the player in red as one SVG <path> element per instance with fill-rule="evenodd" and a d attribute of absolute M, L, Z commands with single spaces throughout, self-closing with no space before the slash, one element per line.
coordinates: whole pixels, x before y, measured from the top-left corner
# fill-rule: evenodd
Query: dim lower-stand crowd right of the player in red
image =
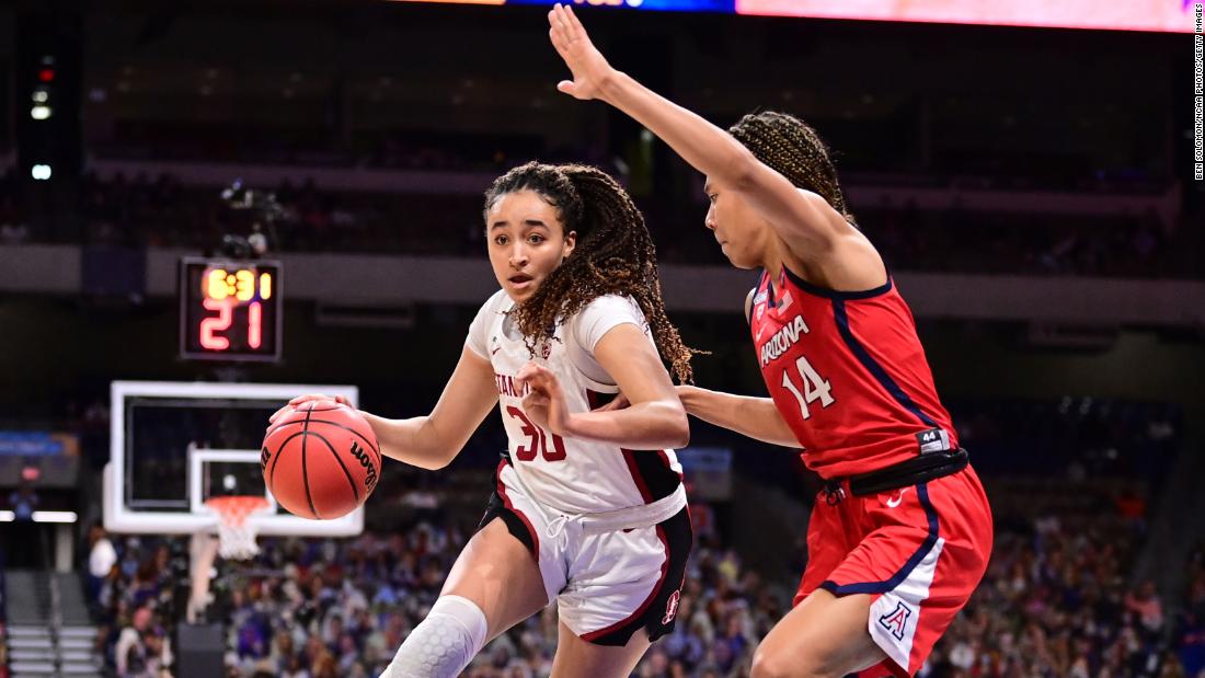
<path fill-rule="evenodd" d="M 1183 676 L 1153 584 L 1130 584 L 1144 523 L 1109 501 L 1069 509 L 1059 494 L 1051 485 L 1012 497 L 1058 507 L 1028 529 L 995 507 L 1010 527 L 998 530 L 988 572 L 937 643 L 931 674 Z"/>

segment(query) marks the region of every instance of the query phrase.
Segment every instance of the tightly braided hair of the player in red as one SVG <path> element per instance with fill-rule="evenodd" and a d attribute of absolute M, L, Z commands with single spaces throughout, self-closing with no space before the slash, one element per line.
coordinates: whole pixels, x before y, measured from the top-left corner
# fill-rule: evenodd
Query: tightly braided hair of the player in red
<path fill-rule="evenodd" d="M 728 128 L 758 160 L 833 206 L 845 220 L 857 222 L 845 202 L 829 148 L 811 125 L 787 113 L 750 113 Z"/>

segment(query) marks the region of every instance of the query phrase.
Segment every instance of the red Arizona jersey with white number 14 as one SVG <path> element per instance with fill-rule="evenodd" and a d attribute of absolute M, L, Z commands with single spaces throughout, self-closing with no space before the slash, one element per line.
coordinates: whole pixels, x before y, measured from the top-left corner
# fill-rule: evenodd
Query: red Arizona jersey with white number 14
<path fill-rule="evenodd" d="M 762 273 L 750 329 L 774 403 L 824 478 L 954 449 L 916 322 L 892 279 L 866 291 L 818 288 L 783 267 Z"/>

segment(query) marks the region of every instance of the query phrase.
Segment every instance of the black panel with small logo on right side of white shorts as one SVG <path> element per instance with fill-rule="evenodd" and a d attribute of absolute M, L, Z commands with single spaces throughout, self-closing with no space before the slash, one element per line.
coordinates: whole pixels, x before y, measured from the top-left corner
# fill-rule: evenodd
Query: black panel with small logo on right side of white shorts
<path fill-rule="evenodd" d="M 683 507 L 672 518 L 658 523 L 657 537 L 662 540 L 666 559 L 662 565 L 660 578 L 658 578 L 648 599 L 627 619 L 605 629 L 590 631 L 582 636 L 583 641 L 595 645 L 623 647 L 640 629 L 648 631 L 649 641 L 656 641 L 674 631 L 678 601 L 682 597 L 682 584 L 686 580 L 686 564 L 694 542 L 689 509 Z"/>

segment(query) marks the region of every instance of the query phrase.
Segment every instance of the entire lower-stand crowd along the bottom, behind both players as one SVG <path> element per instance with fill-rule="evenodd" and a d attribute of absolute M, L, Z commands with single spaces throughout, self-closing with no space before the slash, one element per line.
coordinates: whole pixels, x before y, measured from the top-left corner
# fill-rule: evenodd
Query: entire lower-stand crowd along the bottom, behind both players
<path fill-rule="evenodd" d="M 995 493 L 1004 509 L 988 573 L 921 676 L 1194 676 L 1205 647 L 1193 617 L 1205 589 L 1200 554 L 1194 612 L 1175 649 L 1164 641 L 1154 588 L 1129 583 L 1144 523 L 1125 514 L 1111 488 L 1080 488 L 1092 495 L 1080 511 L 1068 511 L 1050 484 L 1018 481 Z M 261 538 L 254 560 L 223 564 L 213 584 L 210 612 L 227 621 L 228 676 L 378 674 L 439 595 L 468 536 L 423 521 L 347 541 Z M 118 676 L 151 676 L 137 671 L 170 661 L 164 626 L 172 591 L 186 583 L 167 560 L 183 542 L 122 542 L 100 591 L 102 645 Z M 677 626 L 634 676 L 748 676 L 758 639 L 789 609 L 794 585 L 747 568 L 718 537 L 701 538 Z M 556 611 L 547 608 L 487 645 L 466 676 L 547 676 L 556 638 Z"/>

